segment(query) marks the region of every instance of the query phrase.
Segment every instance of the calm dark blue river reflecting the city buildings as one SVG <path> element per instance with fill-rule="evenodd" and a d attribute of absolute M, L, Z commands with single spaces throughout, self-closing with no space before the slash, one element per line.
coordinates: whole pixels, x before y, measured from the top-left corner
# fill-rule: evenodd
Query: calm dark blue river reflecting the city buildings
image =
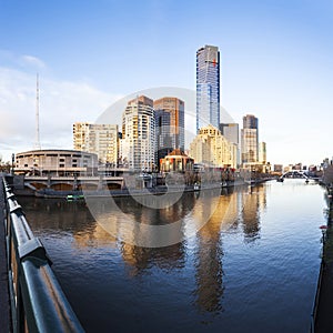
<path fill-rule="evenodd" d="M 138 246 L 108 233 L 84 201 L 19 198 L 87 332 L 309 332 L 326 223 L 320 185 L 185 193 L 161 209 L 114 201 L 120 224 L 181 220 L 181 241 Z"/>

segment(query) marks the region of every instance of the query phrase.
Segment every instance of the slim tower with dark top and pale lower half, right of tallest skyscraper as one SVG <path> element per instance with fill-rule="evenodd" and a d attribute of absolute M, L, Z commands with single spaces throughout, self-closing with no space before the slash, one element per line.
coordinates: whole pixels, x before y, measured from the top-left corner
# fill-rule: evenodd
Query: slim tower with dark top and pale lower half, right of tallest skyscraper
<path fill-rule="evenodd" d="M 242 163 L 259 162 L 258 118 L 252 114 L 243 117 L 241 131 Z"/>

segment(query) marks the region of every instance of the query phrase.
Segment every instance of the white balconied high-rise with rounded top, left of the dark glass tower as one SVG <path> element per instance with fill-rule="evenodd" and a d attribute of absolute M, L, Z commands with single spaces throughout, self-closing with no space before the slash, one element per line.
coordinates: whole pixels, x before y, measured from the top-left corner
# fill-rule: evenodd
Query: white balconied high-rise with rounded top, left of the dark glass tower
<path fill-rule="evenodd" d="M 141 95 L 128 102 L 122 114 L 120 158 L 135 171 L 155 169 L 155 114 L 153 100 Z"/>

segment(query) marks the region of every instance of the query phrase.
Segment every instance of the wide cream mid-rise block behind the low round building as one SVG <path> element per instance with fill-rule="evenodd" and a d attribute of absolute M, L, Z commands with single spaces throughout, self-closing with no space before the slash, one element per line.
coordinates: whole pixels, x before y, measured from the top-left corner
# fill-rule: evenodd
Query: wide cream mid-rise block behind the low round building
<path fill-rule="evenodd" d="M 101 164 L 117 167 L 119 154 L 119 129 L 117 124 L 75 122 L 73 124 L 75 150 L 95 153 Z"/>

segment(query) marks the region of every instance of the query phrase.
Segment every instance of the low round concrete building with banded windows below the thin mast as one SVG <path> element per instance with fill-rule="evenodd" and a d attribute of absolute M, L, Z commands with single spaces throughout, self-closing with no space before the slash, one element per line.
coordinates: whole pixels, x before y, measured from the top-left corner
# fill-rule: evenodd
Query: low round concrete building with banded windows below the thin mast
<path fill-rule="evenodd" d="M 16 173 L 28 175 L 97 174 L 98 155 L 77 150 L 31 150 L 16 154 Z"/>

